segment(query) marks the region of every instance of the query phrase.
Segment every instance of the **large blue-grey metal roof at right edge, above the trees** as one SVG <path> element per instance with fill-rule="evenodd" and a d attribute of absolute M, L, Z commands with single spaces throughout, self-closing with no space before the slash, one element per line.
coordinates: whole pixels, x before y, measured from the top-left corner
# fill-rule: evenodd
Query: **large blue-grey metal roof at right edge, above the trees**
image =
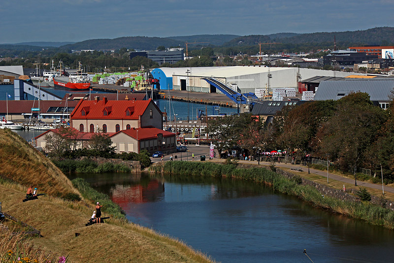
<path fill-rule="evenodd" d="M 394 80 L 381 79 L 348 79 L 337 81 L 322 81 L 315 94 L 315 100 L 341 99 L 351 92 L 365 92 L 370 100 L 391 100 L 389 98 L 394 88 Z"/>

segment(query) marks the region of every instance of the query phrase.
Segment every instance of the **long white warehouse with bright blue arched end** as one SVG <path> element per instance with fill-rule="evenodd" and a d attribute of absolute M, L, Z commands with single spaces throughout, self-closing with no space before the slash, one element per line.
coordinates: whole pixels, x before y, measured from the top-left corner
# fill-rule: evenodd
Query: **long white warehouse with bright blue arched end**
<path fill-rule="evenodd" d="M 216 88 L 202 78 L 215 77 L 228 86 L 238 86 L 242 93 L 255 93 L 255 89 L 296 88 L 302 79 L 315 76 L 346 77 L 353 72 L 341 72 L 298 67 L 266 66 L 213 66 L 213 67 L 161 67 L 152 70 L 155 78 L 160 79 L 162 89 L 187 90 L 204 93 L 216 93 Z M 365 74 L 357 74 L 365 75 Z"/>

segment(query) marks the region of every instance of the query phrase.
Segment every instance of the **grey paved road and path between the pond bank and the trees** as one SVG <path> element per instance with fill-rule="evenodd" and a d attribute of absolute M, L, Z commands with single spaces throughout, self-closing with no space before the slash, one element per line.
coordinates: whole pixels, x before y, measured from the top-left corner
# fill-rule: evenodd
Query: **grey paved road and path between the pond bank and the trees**
<path fill-rule="evenodd" d="M 215 152 L 216 152 L 216 157 L 214 158 L 214 160 L 218 160 L 218 161 L 223 160 L 223 159 L 219 159 L 218 155 L 217 155 L 217 151 L 215 151 Z M 195 154 L 195 161 L 200 161 L 200 155 L 205 155 L 206 160 L 208 160 L 209 159 L 209 146 L 208 145 L 200 145 L 200 146 L 189 145 L 188 151 L 182 153 L 182 161 L 192 161 L 192 153 Z M 181 160 L 181 157 L 180 157 L 181 153 L 174 153 L 173 155 L 174 156 L 177 155 L 178 161 Z M 170 157 L 170 155 L 165 155 L 163 160 L 169 161 L 169 157 Z M 160 162 L 160 158 L 151 158 L 151 160 L 153 163 Z M 242 164 L 257 164 L 256 161 L 239 161 L 239 162 Z M 260 162 L 260 164 L 261 165 L 269 165 L 268 162 Z M 304 166 L 304 165 L 283 164 L 283 163 L 280 163 L 280 164 L 276 163 L 275 165 L 277 167 L 302 169 L 302 171 L 308 172 L 308 167 Z M 317 169 L 313 169 L 313 168 L 310 168 L 309 170 L 310 170 L 310 173 L 314 173 L 314 174 L 317 174 L 317 175 L 327 178 L 327 171 L 317 170 Z M 331 180 L 354 185 L 354 179 L 343 177 L 343 176 L 329 172 L 328 173 L 328 181 L 331 181 Z M 373 184 L 373 183 L 363 182 L 363 181 L 359 181 L 359 180 L 357 180 L 357 186 L 363 186 L 363 187 L 367 187 L 367 188 L 382 190 L 381 184 Z M 385 193 L 386 192 L 394 193 L 393 187 L 384 186 L 384 190 L 385 190 Z"/>

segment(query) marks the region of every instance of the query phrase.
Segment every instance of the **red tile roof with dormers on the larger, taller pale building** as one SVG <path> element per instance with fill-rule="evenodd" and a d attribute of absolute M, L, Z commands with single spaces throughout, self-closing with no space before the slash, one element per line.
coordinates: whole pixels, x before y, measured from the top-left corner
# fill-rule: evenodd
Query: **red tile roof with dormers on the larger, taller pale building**
<path fill-rule="evenodd" d="M 71 113 L 71 119 L 128 119 L 128 120 L 138 120 L 139 116 L 141 116 L 149 103 L 153 103 L 152 99 L 149 100 L 80 100 L 78 105 L 74 108 L 74 111 Z M 89 113 L 86 112 L 85 116 L 82 116 L 81 111 L 89 107 Z M 130 107 L 134 107 L 134 111 L 131 112 L 130 116 L 126 115 L 126 110 Z M 156 106 L 157 107 L 157 106 Z M 104 109 L 107 110 L 107 116 L 103 115 Z M 160 109 L 157 107 L 158 111 Z"/>

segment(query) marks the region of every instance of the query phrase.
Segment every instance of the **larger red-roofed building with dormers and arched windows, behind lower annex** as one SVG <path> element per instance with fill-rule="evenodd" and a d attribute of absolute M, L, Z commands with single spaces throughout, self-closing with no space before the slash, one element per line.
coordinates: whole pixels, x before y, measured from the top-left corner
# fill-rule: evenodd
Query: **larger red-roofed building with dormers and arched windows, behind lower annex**
<path fill-rule="evenodd" d="M 120 132 L 147 127 L 163 129 L 163 113 L 152 99 L 81 99 L 70 115 L 70 126 L 80 132 Z"/>

